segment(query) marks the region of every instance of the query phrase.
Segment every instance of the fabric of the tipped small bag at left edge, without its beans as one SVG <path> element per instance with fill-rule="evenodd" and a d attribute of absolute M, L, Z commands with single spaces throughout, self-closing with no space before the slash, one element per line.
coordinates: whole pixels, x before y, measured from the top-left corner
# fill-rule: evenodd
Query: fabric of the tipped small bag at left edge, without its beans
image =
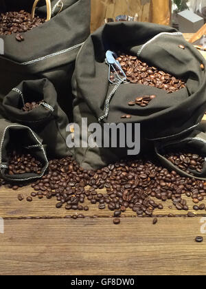
<path fill-rule="evenodd" d="M 41 178 L 48 167 L 48 160 L 42 140 L 36 136 L 36 133 L 29 127 L 11 123 L 8 120 L 0 120 L 0 176 L 9 182 L 30 181 Z M 34 147 L 32 147 L 34 146 Z M 41 175 L 36 173 L 24 173 L 21 175 L 8 175 L 6 168 L 8 167 L 8 152 L 12 149 L 25 149 L 27 153 L 31 153 L 34 158 L 43 164 Z"/>

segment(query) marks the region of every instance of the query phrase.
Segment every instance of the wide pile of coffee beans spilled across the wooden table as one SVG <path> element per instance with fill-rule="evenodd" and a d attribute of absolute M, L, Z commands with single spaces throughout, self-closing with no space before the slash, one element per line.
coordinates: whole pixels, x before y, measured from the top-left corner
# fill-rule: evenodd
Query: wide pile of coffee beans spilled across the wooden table
<path fill-rule="evenodd" d="M 16 190 L 18 186 L 10 185 L 10 188 Z M 159 164 L 143 159 L 117 162 L 98 171 L 86 171 L 70 157 L 51 160 L 47 174 L 34 182 L 32 188 L 31 195 L 26 197 L 28 202 L 34 197 L 55 197 L 56 208 L 64 206 L 67 211 L 83 212 L 89 210 L 84 204 L 87 199 L 100 210 L 113 211 L 114 224 L 119 224 L 117 219 L 128 209 L 137 217 L 152 217 L 153 211 L 162 210 L 162 202 L 167 200 L 172 200 L 177 210 L 187 211 L 188 217 L 195 214 L 189 211 L 187 197 L 192 197 L 195 211 L 205 210 L 205 204 L 201 202 L 206 196 L 206 182 L 183 178 L 175 171 L 169 172 Z M 23 200 L 23 195 L 18 195 L 18 199 Z M 80 213 L 82 217 L 84 214 Z M 153 224 L 157 224 L 156 219 Z"/>

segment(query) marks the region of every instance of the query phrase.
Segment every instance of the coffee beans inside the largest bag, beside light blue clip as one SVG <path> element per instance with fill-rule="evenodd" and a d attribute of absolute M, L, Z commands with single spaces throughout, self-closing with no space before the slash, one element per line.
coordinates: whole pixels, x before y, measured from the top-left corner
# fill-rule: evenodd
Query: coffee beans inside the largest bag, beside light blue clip
<path fill-rule="evenodd" d="M 118 54 L 117 61 L 119 61 L 122 69 L 126 74 L 126 79 L 130 83 L 140 83 L 164 89 L 171 94 L 177 92 L 179 89 L 185 87 L 185 81 L 177 79 L 171 74 L 165 73 L 157 67 L 150 67 L 147 63 L 140 61 L 137 56 L 128 54 Z M 121 72 L 118 72 L 121 75 Z M 111 72 L 111 81 L 115 75 Z"/>

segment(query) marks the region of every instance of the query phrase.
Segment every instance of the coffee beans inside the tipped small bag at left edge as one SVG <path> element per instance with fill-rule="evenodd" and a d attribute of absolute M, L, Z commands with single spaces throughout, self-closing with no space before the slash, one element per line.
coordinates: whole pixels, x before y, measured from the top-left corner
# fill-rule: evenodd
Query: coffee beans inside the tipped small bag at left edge
<path fill-rule="evenodd" d="M 23 173 L 37 173 L 41 174 L 42 164 L 30 153 L 19 153 L 12 151 L 9 153 L 9 175 L 21 175 Z"/>

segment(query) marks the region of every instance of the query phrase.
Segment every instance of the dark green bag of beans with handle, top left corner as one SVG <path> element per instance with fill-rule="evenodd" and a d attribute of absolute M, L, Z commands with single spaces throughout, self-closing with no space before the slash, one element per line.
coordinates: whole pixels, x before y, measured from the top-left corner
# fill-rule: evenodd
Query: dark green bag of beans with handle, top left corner
<path fill-rule="evenodd" d="M 90 1 L 41 0 L 32 18 L 33 4 L 34 0 L 0 0 L 0 102 L 21 81 L 46 77 L 71 117 L 71 76 L 90 33 Z"/>

